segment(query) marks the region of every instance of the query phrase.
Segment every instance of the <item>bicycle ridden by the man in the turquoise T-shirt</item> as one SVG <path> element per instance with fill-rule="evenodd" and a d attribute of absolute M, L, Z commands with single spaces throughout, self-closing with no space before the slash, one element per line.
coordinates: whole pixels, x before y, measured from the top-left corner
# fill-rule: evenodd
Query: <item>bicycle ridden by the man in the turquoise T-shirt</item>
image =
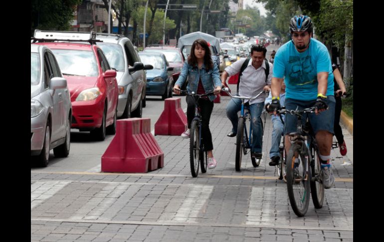
<path fill-rule="evenodd" d="M 297 131 L 288 134 L 291 148 L 286 156 L 286 177 L 289 201 L 293 212 L 299 217 L 307 213 L 309 194 L 312 195 L 315 208 L 322 208 L 324 202 L 324 185 L 320 177 L 319 149 L 315 134 L 308 119 L 305 125 L 302 125 L 303 114 L 313 113 L 314 110 L 315 108 L 311 107 L 278 111 L 298 117 Z"/>

